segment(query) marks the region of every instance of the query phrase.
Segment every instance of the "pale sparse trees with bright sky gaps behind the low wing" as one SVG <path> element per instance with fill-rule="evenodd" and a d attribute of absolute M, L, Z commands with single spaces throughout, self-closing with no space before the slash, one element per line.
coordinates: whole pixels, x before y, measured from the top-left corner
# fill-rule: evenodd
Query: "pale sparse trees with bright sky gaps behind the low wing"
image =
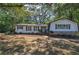
<path fill-rule="evenodd" d="M 36 24 L 47 24 L 53 16 L 52 4 L 28 4 L 28 9 L 32 12 L 30 21 Z"/>

